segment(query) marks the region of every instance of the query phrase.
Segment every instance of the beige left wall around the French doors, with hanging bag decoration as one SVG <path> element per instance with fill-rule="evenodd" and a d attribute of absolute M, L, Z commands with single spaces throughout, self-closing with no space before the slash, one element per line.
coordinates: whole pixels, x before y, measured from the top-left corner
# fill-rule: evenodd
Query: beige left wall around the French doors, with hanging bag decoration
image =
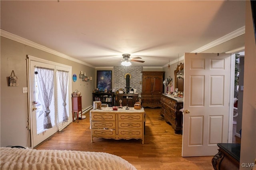
<path fill-rule="evenodd" d="M 22 93 L 22 87 L 27 85 L 26 56 L 31 55 L 72 66 L 72 75 L 85 71 L 87 76 L 94 77 L 94 68 L 58 57 L 45 51 L 24 45 L 22 43 L 1 36 L 1 103 L 0 103 L 0 130 L 1 147 L 5 146 L 28 146 L 30 147 L 30 135 L 28 126 L 28 93 Z M 20 77 L 19 86 L 8 86 L 7 77 L 12 70 Z M 72 78 L 72 77 L 70 77 Z M 72 81 L 72 91 L 78 89 L 82 93 L 82 107 L 86 109 L 92 105 L 92 89 L 94 81 Z M 71 94 L 68 94 L 71 97 Z M 70 114 L 71 115 L 71 114 Z"/>

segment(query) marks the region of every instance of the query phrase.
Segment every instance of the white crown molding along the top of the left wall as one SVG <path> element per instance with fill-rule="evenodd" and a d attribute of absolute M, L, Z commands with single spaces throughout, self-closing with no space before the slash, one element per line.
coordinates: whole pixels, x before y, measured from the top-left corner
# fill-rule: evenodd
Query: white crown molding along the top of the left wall
<path fill-rule="evenodd" d="M 5 31 L 5 30 L 0 29 L 0 35 L 1 35 L 2 37 L 8 38 L 8 39 L 10 39 L 10 40 L 14 40 L 14 41 L 16 41 L 16 42 L 23 43 L 23 44 L 25 44 L 25 45 L 29 45 L 29 46 L 31 46 L 31 47 L 40 49 L 40 50 L 42 50 L 42 51 L 51 53 L 51 54 L 53 54 L 53 55 L 57 55 L 57 56 L 59 56 L 59 57 L 62 57 L 62 58 L 65 58 L 65 59 L 74 61 L 74 62 L 76 62 L 76 63 L 80 63 L 80 64 L 83 64 L 83 65 L 87 65 L 88 67 L 95 68 L 95 66 L 90 65 L 90 64 L 88 64 L 88 63 L 86 63 L 86 62 L 84 62 L 84 61 L 80 61 L 80 60 L 78 60 L 78 59 L 75 59 L 75 58 L 70 57 L 70 56 L 68 56 L 68 55 L 65 55 L 65 54 L 63 54 L 63 53 L 60 53 L 60 52 L 58 52 L 58 51 L 55 51 L 55 50 L 53 50 L 53 49 L 50 49 L 50 48 L 45 47 L 45 46 L 43 46 L 43 45 L 40 45 L 40 44 L 38 44 L 38 43 L 32 42 L 32 41 L 30 41 L 30 40 L 27 40 L 27 39 L 25 39 L 25 38 L 22 38 L 22 37 L 20 37 L 20 36 L 17 36 L 17 35 L 15 35 L 15 34 L 12 34 L 12 33 L 10 33 L 10 32 L 7 32 L 7 31 Z"/>

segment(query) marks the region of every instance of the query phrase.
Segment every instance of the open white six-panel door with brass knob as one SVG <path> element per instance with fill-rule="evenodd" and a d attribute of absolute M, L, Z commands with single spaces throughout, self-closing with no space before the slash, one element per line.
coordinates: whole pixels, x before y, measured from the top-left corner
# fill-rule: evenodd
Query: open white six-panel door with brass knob
<path fill-rule="evenodd" d="M 213 156 L 228 140 L 230 57 L 185 53 L 182 156 Z"/>

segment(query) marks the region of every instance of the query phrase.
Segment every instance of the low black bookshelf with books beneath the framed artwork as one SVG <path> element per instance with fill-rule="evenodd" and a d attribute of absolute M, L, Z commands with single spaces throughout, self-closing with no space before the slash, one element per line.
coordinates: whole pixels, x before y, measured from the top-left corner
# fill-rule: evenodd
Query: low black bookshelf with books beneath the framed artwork
<path fill-rule="evenodd" d="M 93 101 L 101 101 L 101 103 L 108 104 L 109 107 L 114 106 L 115 93 L 92 93 Z"/>

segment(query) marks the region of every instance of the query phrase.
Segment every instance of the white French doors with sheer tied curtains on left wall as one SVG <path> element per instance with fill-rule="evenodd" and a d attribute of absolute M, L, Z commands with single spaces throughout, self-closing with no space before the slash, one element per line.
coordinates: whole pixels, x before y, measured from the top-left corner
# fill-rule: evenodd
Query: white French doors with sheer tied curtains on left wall
<path fill-rule="evenodd" d="M 71 122 L 71 67 L 31 58 L 34 57 L 29 60 L 30 128 L 34 148 Z"/>

